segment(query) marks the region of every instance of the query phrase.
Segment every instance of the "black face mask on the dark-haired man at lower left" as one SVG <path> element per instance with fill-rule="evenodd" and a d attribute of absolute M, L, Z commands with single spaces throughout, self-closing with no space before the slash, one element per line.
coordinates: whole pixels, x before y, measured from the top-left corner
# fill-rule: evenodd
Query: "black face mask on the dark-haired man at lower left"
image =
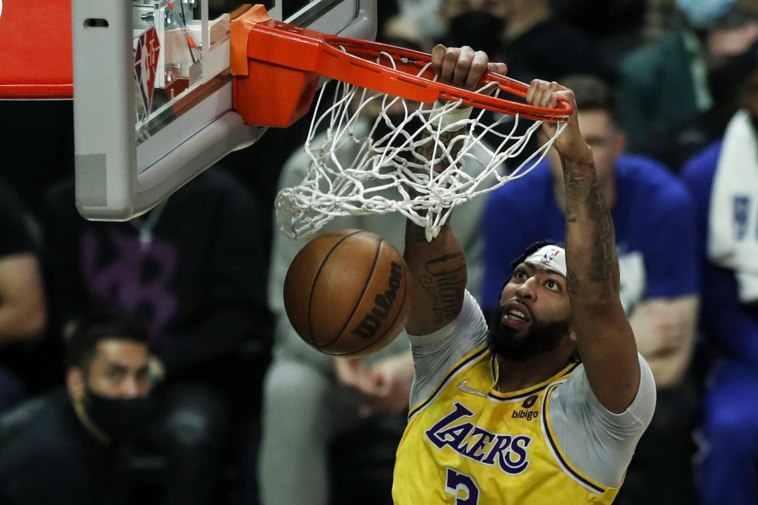
<path fill-rule="evenodd" d="M 84 409 L 99 429 L 115 440 L 133 440 L 146 427 L 149 397 L 109 398 L 87 390 Z"/>

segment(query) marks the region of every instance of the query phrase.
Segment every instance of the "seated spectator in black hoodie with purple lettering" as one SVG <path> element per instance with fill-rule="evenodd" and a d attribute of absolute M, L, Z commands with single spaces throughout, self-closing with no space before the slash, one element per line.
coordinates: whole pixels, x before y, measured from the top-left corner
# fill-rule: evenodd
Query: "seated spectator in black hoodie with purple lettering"
<path fill-rule="evenodd" d="M 269 350 L 264 241 L 249 189 L 216 169 L 127 223 L 81 219 L 73 179 L 48 198 L 52 326 L 100 310 L 145 324 L 161 388 L 143 441 L 167 462 L 164 505 L 217 503 L 236 427 L 250 440 L 241 457 L 255 452 L 255 426 L 243 416 L 255 412 L 260 385 L 248 363 L 265 363 Z"/>

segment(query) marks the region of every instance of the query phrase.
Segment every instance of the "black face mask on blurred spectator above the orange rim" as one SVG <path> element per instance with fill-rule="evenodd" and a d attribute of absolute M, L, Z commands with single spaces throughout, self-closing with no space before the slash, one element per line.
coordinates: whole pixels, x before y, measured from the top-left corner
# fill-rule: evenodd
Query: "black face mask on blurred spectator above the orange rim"
<path fill-rule="evenodd" d="M 503 19 L 487 11 L 466 11 L 450 21 L 445 42 L 455 47 L 470 45 L 486 52 L 491 60 L 500 53 L 505 26 Z"/>

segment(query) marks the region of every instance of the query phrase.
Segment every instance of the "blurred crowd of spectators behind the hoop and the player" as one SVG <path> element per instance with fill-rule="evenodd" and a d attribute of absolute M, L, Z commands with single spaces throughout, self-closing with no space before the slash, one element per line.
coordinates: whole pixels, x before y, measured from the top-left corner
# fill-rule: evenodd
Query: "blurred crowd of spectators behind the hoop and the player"
<path fill-rule="evenodd" d="M 575 90 L 658 388 L 615 503 L 758 503 L 758 2 L 377 4 L 382 42 L 471 45 L 516 79 Z M 406 336 L 336 360 L 283 310 L 307 241 L 278 232 L 272 203 L 302 180 L 309 120 L 270 129 L 142 217 L 96 223 L 74 206 L 70 102 L 0 102 L 0 114 L 13 125 L 0 136 L 0 503 L 391 503 Z M 549 155 L 453 214 L 485 310 L 518 251 L 562 242 L 562 187 Z M 403 221 L 327 229 L 402 250 Z"/>

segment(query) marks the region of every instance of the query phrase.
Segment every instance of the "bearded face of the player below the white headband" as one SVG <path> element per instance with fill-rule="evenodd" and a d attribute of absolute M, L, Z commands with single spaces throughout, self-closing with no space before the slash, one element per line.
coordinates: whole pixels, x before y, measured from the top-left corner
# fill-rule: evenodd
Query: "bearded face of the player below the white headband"
<path fill-rule="evenodd" d="M 501 357 L 527 360 L 553 351 L 571 328 L 564 277 L 540 264 L 518 265 L 489 324 L 490 348 Z"/>

